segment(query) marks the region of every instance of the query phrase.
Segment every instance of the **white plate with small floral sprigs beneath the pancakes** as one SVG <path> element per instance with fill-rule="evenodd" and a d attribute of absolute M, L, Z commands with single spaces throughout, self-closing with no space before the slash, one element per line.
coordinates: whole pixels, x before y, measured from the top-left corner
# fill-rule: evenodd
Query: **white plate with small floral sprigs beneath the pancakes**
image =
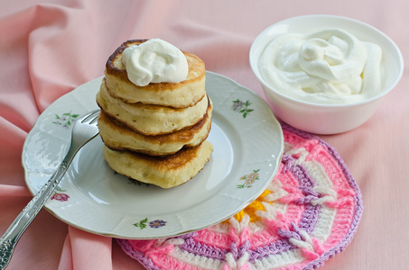
<path fill-rule="evenodd" d="M 225 76 L 207 72 L 206 78 L 214 106 L 208 138 L 214 152 L 191 181 L 162 189 L 115 174 L 102 157 L 102 140 L 97 137 L 79 150 L 45 208 L 92 233 L 164 238 L 207 228 L 253 202 L 278 170 L 283 130 L 258 95 Z M 28 134 L 22 159 L 32 193 L 48 181 L 65 156 L 76 115 L 98 108 L 95 95 L 100 81 L 92 80 L 60 97 Z"/>

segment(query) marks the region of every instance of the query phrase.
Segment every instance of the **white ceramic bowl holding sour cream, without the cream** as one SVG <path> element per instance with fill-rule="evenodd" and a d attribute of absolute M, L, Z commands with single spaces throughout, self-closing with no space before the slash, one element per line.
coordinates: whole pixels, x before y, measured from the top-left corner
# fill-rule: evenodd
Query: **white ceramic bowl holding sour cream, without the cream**
<path fill-rule="evenodd" d="M 258 62 L 269 40 L 288 32 L 311 33 L 329 28 L 349 31 L 358 40 L 373 42 L 381 47 L 387 74 L 385 88 L 380 94 L 358 103 L 316 104 L 286 96 L 265 83 L 260 76 Z M 404 59 L 393 40 L 366 23 L 334 15 L 305 15 L 274 23 L 262 31 L 251 46 L 250 66 L 278 118 L 300 130 L 317 134 L 336 134 L 355 129 L 372 116 L 381 98 L 400 80 L 404 71 Z"/>

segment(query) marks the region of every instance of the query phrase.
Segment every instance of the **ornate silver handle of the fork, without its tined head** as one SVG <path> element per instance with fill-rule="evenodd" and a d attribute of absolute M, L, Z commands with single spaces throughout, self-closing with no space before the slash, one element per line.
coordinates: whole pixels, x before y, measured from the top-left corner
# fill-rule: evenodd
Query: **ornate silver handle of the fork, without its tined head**
<path fill-rule="evenodd" d="M 54 174 L 51 175 L 50 180 L 34 195 L 33 199 L 28 202 L 23 211 L 20 212 L 10 227 L 5 231 L 5 234 L 0 238 L 0 270 L 5 269 L 10 262 L 15 245 L 23 235 L 25 229 L 27 229 L 37 213 L 42 209 L 44 203 L 51 197 L 51 193 L 53 193 L 57 185 L 60 184 L 62 176 L 70 166 L 70 162 L 76 152 L 77 151 L 73 152 L 70 148 L 60 166 Z"/>

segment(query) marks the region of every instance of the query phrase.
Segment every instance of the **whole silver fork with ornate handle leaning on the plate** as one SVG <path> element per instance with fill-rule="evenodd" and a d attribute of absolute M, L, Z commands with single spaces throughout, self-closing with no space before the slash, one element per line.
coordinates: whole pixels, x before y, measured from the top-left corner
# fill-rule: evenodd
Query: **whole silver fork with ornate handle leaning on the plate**
<path fill-rule="evenodd" d="M 13 221 L 12 225 L 5 231 L 0 238 L 0 269 L 5 269 L 11 257 L 13 256 L 14 247 L 17 244 L 23 232 L 33 221 L 37 213 L 42 209 L 44 203 L 51 197 L 51 193 L 62 179 L 70 166 L 72 159 L 75 157 L 79 148 L 82 148 L 89 140 L 94 139 L 99 131 L 97 126 L 99 110 L 89 112 L 75 122 L 71 133 L 71 143 L 67 155 L 62 160 L 60 166 L 51 175 L 47 184 L 35 194 L 32 201 L 24 207 L 23 211 Z"/>

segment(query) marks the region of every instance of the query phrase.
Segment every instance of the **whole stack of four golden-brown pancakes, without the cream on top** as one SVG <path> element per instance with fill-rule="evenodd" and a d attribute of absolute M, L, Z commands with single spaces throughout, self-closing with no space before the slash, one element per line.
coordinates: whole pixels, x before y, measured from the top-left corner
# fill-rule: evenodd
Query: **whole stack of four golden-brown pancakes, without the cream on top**
<path fill-rule="evenodd" d="M 205 67 L 183 52 L 189 74 L 181 83 L 133 84 L 122 63 L 128 40 L 108 58 L 97 94 L 104 158 L 117 173 L 170 188 L 189 181 L 209 161 L 212 103 Z"/>

